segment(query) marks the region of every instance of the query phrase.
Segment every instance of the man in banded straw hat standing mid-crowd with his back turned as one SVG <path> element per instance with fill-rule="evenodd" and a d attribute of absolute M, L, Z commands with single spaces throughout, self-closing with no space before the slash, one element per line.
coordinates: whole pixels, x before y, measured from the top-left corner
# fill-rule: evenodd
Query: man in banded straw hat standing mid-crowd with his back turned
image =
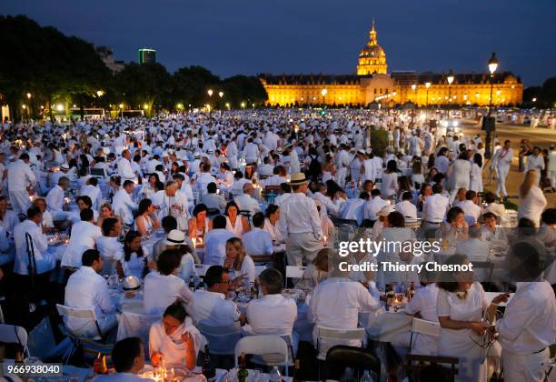
<path fill-rule="evenodd" d="M 308 184 L 303 173 L 292 174 L 292 196 L 285 199 L 280 208 L 278 225 L 287 235 L 286 253 L 290 266 L 302 266 L 303 260 L 305 263 L 313 261 L 323 248 L 319 212 L 313 199 L 305 195 Z"/>

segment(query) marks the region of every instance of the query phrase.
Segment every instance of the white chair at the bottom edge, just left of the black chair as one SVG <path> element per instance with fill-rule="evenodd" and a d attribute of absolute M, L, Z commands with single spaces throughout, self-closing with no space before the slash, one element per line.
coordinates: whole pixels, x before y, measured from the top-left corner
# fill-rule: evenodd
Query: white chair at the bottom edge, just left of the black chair
<path fill-rule="evenodd" d="M 270 335 L 243 337 L 235 344 L 235 367 L 237 367 L 237 358 L 242 353 L 253 356 L 279 355 L 275 361 L 265 359 L 265 364 L 268 366 L 283 365 L 286 377 L 288 377 L 288 344 L 282 337 Z"/>

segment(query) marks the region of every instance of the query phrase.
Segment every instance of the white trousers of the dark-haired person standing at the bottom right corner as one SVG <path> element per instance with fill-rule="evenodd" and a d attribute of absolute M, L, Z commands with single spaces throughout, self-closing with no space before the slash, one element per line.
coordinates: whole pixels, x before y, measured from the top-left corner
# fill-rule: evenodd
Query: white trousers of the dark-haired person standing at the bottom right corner
<path fill-rule="evenodd" d="M 504 381 L 541 382 L 544 378 L 544 368 L 548 363 L 550 354 L 551 352 L 548 347 L 541 351 L 541 353 L 529 355 L 513 354 L 502 350 Z"/>

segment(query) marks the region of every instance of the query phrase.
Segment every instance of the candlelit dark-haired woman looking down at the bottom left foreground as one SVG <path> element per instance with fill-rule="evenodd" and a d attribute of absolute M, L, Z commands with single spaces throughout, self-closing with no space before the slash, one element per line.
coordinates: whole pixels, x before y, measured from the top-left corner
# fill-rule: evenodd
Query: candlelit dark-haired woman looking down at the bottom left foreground
<path fill-rule="evenodd" d="M 187 316 L 184 305 L 175 301 L 165 308 L 163 319 L 149 329 L 151 365 L 159 367 L 164 359 L 166 367 L 183 365 L 193 370 L 203 342 L 203 335 Z"/>

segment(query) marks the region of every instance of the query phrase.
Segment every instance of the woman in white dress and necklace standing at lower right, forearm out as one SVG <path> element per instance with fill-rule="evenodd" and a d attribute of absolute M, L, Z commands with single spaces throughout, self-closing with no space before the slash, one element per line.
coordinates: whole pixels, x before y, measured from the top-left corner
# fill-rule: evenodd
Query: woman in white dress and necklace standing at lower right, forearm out
<path fill-rule="evenodd" d="M 465 255 L 452 255 L 444 262 L 446 266 L 470 264 Z M 441 324 L 438 355 L 460 359 L 456 381 L 486 381 L 484 349 L 477 344 L 482 344 L 488 322 L 495 318 L 496 305 L 506 296 L 494 297 L 490 304 L 482 285 L 473 279 L 472 270 L 446 271 L 442 272 L 442 281 L 437 283 L 436 310 Z"/>

